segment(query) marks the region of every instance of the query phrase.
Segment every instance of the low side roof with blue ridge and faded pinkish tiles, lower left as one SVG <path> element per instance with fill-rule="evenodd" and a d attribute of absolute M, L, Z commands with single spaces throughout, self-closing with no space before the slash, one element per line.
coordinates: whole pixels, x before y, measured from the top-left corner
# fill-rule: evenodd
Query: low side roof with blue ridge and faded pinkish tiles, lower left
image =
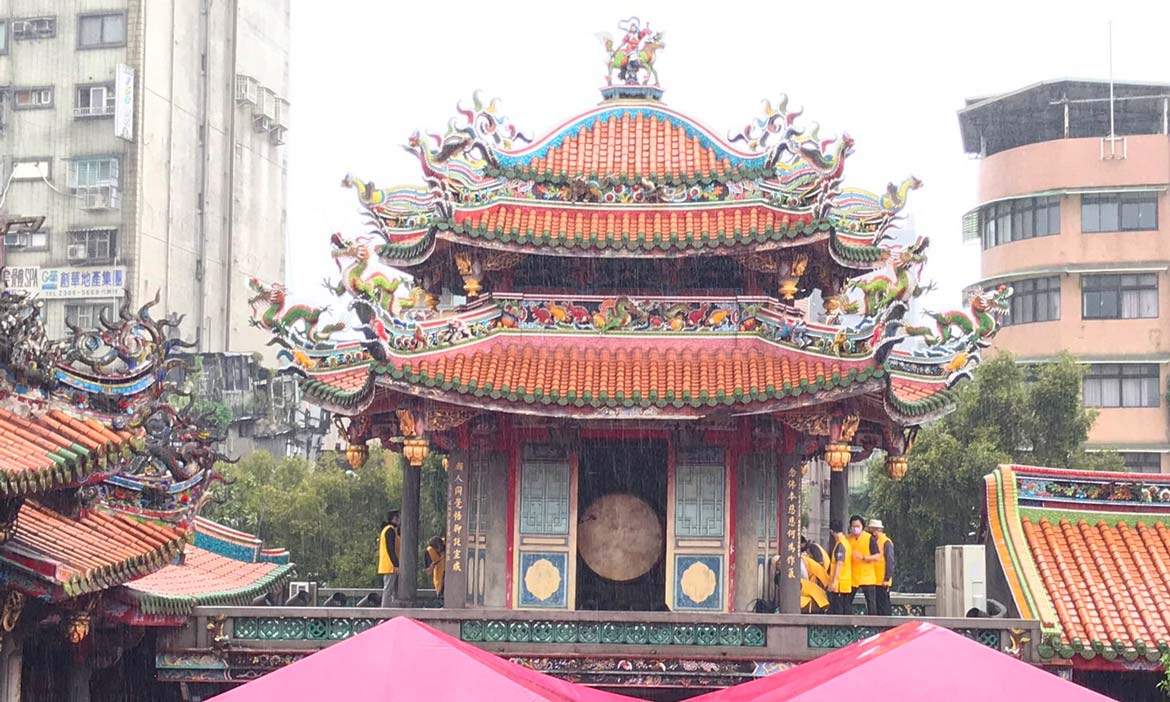
<path fill-rule="evenodd" d="M 200 605 L 248 605 L 291 577 L 288 551 L 200 517 L 181 562 L 128 583 L 119 597 L 146 614 L 185 615 Z"/>

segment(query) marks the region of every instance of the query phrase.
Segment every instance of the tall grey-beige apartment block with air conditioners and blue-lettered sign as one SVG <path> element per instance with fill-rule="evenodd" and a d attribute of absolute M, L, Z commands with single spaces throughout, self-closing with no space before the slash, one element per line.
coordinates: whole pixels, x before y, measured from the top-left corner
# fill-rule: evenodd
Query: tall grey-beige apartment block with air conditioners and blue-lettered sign
<path fill-rule="evenodd" d="M 4 282 L 50 331 L 123 290 L 204 351 L 262 350 L 248 278 L 283 282 L 290 0 L 0 4 Z"/>

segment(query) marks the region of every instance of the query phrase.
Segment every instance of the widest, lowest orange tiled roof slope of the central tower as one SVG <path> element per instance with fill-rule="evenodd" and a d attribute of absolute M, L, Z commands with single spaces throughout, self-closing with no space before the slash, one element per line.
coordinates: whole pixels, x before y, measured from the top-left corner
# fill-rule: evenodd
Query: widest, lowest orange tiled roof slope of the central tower
<path fill-rule="evenodd" d="M 748 404 L 846 387 L 885 373 L 759 337 L 639 338 L 501 335 L 371 366 L 387 381 L 564 407 Z M 319 377 L 315 377 L 319 380 Z"/>

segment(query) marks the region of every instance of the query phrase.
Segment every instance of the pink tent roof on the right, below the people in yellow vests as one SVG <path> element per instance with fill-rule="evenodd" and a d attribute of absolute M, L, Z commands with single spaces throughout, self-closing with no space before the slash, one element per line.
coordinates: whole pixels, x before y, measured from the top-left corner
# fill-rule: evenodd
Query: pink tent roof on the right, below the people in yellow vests
<path fill-rule="evenodd" d="M 932 624 L 910 622 L 760 680 L 693 702 L 984 702 L 1109 697 Z"/>

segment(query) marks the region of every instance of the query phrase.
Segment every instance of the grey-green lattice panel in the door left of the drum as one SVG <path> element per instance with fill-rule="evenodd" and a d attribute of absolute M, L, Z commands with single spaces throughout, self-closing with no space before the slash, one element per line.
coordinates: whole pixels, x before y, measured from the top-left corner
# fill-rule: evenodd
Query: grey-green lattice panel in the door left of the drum
<path fill-rule="evenodd" d="M 557 447 L 524 447 L 519 475 L 519 531 L 569 534 L 569 457 Z"/>

